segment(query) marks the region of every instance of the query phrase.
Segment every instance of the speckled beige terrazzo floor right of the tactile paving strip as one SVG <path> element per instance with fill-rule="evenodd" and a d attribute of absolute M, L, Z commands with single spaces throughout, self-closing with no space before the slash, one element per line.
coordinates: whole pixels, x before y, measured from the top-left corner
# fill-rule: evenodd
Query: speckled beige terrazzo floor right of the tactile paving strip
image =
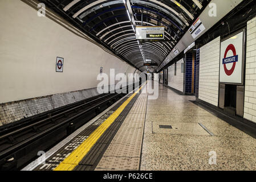
<path fill-rule="evenodd" d="M 256 139 L 189 100 L 159 84 L 159 98 L 147 102 L 140 170 L 256 170 Z"/>

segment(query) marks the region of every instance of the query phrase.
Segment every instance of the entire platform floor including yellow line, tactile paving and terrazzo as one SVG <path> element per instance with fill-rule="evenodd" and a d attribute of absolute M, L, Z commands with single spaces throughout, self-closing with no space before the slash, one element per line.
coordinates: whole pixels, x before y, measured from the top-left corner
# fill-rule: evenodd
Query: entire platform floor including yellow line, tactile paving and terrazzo
<path fill-rule="evenodd" d="M 255 138 L 193 104 L 195 97 L 156 84 L 156 100 L 147 89 L 129 94 L 53 148 L 46 164 L 25 169 L 256 170 Z"/>

